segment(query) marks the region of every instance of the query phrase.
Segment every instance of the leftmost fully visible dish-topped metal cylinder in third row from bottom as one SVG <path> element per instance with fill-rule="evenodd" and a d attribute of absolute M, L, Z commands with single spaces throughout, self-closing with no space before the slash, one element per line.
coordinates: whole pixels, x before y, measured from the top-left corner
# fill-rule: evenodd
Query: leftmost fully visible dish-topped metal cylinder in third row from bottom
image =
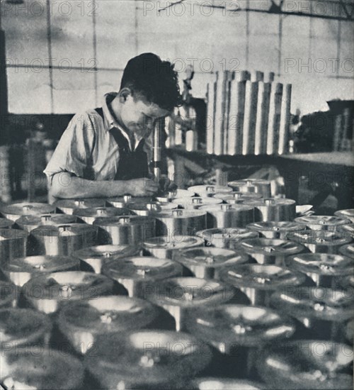
<path fill-rule="evenodd" d="M 112 295 L 112 279 L 92 272 L 67 271 L 42 274 L 22 287 L 25 301 L 43 313 L 55 313 L 69 301 L 96 299 Z"/>

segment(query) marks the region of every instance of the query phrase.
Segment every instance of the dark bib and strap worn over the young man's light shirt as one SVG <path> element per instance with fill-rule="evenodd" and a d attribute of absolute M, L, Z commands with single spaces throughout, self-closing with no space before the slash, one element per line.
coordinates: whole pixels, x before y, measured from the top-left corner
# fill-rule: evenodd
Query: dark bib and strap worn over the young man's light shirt
<path fill-rule="evenodd" d="M 97 113 L 103 118 L 102 108 L 95 108 Z M 147 162 L 147 153 L 144 152 L 144 138 L 139 142 L 135 150 L 130 150 L 129 143 L 118 128 L 112 128 L 110 133 L 113 135 L 119 150 L 118 170 L 115 174 L 115 180 L 130 180 L 148 177 L 149 165 Z"/>

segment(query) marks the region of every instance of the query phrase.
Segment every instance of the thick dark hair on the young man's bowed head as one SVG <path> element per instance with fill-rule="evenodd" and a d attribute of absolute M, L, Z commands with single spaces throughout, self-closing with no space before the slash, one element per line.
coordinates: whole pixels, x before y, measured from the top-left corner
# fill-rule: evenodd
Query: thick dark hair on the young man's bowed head
<path fill-rule="evenodd" d="M 128 61 L 120 89 L 129 88 L 133 96 L 141 95 L 149 103 L 172 111 L 181 105 L 178 74 L 173 67 L 151 52 L 138 55 Z"/>

